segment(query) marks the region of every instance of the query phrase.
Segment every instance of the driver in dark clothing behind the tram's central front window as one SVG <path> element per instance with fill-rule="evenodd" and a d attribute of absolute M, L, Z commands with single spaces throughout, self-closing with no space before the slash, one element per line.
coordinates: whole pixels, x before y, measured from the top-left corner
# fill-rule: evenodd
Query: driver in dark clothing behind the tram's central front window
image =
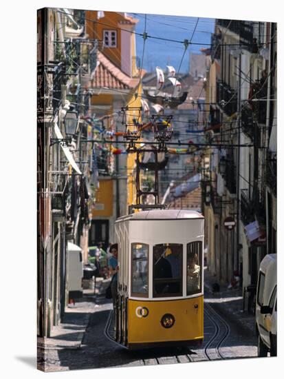
<path fill-rule="evenodd" d="M 171 263 L 168 262 L 159 250 L 154 250 L 154 290 L 156 295 L 165 294 L 168 291 L 168 283 L 163 280 L 159 283 L 157 280 L 164 278 L 172 278 Z M 157 279 L 157 280 L 155 280 Z"/>

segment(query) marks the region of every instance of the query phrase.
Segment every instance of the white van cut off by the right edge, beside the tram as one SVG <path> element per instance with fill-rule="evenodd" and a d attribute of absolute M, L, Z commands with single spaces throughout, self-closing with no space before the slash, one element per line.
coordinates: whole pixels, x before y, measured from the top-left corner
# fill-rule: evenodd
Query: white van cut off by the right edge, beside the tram
<path fill-rule="evenodd" d="M 259 267 L 256 291 L 258 356 L 277 354 L 277 255 L 267 254 Z"/>

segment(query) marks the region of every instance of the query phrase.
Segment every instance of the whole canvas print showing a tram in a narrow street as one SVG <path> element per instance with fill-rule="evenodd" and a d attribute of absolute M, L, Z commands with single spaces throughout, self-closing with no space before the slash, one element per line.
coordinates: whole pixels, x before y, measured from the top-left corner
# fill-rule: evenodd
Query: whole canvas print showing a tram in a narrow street
<path fill-rule="evenodd" d="M 42 371 L 277 355 L 277 24 L 166 20 L 38 11 Z"/>

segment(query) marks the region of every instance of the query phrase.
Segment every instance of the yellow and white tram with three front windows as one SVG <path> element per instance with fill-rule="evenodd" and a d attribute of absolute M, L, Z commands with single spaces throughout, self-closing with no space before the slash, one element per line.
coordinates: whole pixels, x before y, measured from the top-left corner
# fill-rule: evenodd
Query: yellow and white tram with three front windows
<path fill-rule="evenodd" d="M 116 341 L 129 349 L 201 344 L 204 216 L 177 209 L 118 218 Z"/>

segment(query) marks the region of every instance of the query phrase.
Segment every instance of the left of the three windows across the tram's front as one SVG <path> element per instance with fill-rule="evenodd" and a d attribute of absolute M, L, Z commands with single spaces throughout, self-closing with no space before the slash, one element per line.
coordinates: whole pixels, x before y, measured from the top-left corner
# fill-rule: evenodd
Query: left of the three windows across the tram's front
<path fill-rule="evenodd" d="M 131 295 L 148 297 L 149 245 L 131 243 Z"/>

